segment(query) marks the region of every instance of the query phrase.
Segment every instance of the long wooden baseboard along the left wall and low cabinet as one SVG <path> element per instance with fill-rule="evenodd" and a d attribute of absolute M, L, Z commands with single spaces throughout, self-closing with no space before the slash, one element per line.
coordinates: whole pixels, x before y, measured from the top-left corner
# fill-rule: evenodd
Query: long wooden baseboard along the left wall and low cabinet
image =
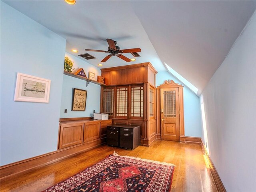
<path fill-rule="evenodd" d="M 62 159 L 74 156 L 76 154 L 86 152 L 93 148 L 106 144 L 106 138 L 94 140 L 93 142 L 86 142 L 76 146 L 56 150 L 11 164 L 7 164 L 0 167 L 0 181 L 7 179 L 11 176 L 26 173 L 32 170 L 36 170 L 40 167 L 52 164 Z"/>

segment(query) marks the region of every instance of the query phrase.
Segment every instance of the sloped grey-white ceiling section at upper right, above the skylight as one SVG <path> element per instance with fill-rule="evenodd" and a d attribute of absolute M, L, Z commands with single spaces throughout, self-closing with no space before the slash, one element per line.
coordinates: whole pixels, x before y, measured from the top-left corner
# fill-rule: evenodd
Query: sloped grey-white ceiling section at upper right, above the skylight
<path fill-rule="evenodd" d="M 198 90 L 224 61 L 256 1 L 144 1 L 133 8 L 158 56 Z"/>

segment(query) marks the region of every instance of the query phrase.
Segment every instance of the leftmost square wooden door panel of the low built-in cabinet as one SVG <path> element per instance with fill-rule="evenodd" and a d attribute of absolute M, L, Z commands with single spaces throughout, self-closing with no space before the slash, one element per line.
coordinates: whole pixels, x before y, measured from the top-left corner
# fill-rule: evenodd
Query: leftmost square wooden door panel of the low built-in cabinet
<path fill-rule="evenodd" d="M 60 126 L 59 149 L 83 142 L 84 124 L 66 124 Z"/>

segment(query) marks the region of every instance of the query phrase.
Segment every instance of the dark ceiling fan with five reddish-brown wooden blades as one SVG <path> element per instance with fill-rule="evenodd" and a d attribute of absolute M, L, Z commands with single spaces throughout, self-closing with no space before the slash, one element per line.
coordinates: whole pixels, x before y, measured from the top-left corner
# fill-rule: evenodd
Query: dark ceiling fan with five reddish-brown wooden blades
<path fill-rule="evenodd" d="M 122 55 L 121 53 L 130 53 L 132 54 L 134 57 L 138 57 L 140 56 L 137 52 L 141 52 L 140 48 L 133 48 L 133 49 L 120 49 L 120 47 L 116 46 L 116 41 L 112 40 L 112 39 L 107 39 L 108 42 L 108 51 L 102 51 L 102 50 L 94 50 L 94 49 L 86 49 L 86 51 L 95 51 L 95 52 L 104 52 L 104 53 L 110 53 L 109 55 L 107 55 L 104 59 L 102 59 L 101 62 L 106 62 L 110 57 L 112 56 L 118 56 L 120 59 L 125 60 L 126 62 L 130 62 L 131 60 Z"/>

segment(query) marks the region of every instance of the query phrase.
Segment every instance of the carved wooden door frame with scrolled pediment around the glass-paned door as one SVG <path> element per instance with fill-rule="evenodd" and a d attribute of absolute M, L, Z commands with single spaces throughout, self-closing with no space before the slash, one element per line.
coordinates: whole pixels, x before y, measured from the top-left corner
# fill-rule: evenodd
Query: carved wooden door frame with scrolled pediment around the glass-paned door
<path fill-rule="evenodd" d="M 185 135 L 184 130 L 184 104 L 183 104 L 183 87 L 181 84 L 175 83 L 173 80 L 165 80 L 163 84 L 156 88 L 156 124 L 157 124 L 157 132 L 158 134 L 162 135 L 161 133 L 161 100 L 160 100 L 160 89 L 161 88 L 178 88 L 179 92 L 179 108 L 180 108 L 180 141 L 181 138 Z M 162 137 L 161 137 L 162 138 Z M 158 137 L 158 139 L 161 139 Z"/>

